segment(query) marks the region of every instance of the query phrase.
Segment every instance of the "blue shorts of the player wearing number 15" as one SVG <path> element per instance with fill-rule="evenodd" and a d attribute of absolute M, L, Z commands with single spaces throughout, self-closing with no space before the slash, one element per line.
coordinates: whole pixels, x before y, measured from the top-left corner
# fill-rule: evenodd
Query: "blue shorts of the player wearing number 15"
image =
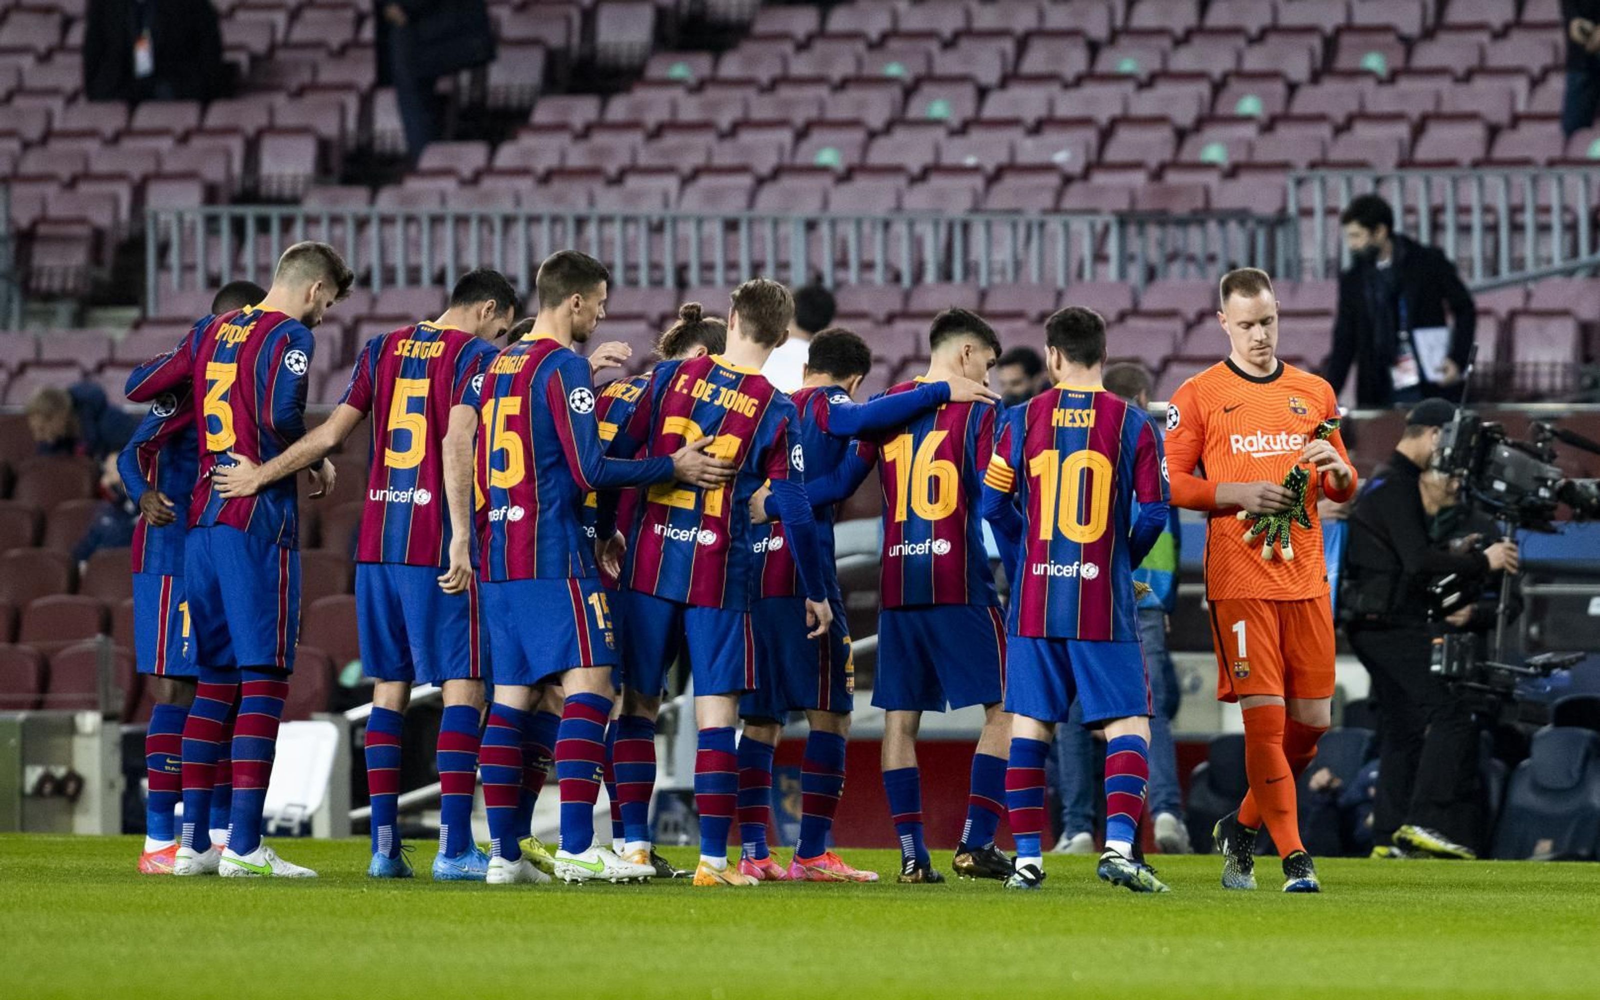
<path fill-rule="evenodd" d="M 576 667 L 616 662 L 611 602 L 598 579 L 480 582 L 496 685 L 531 688 Z"/>

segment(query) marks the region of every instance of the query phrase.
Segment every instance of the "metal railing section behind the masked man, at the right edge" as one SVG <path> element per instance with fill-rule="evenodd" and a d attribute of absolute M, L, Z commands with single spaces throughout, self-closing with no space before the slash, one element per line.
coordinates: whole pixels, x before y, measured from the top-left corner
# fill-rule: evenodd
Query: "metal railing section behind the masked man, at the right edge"
<path fill-rule="evenodd" d="M 1443 250 L 1475 286 L 1571 274 L 1600 254 L 1600 165 L 1314 170 L 1288 178 L 1306 277 L 1331 278 L 1349 264 L 1338 216 L 1368 192 L 1394 206 L 1397 232 Z"/>

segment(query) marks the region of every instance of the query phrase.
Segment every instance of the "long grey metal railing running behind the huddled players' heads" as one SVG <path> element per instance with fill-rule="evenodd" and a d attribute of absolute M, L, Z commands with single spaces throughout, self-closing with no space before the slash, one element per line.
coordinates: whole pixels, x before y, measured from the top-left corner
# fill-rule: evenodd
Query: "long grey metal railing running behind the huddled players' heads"
<path fill-rule="evenodd" d="M 270 277 L 298 240 L 338 248 L 366 288 L 450 285 L 494 267 L 520 286 L 560 248 L 605 261 L 618 285 L 731 285 L 765 274 L 829 285 L 1146 282 L 1258 264 L 1293 277 L 1288 218 L 1141 213 L 613 213 L 203 206 L 150 211 L 147 306 L 162 291 Z"/>

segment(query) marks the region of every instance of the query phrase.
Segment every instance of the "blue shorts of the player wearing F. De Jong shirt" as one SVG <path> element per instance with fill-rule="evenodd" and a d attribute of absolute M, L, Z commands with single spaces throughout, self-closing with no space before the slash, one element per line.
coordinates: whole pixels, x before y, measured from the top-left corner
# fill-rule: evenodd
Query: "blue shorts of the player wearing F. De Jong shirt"
<path fill-rule="evenodd" d="M 627 621 L 622 643 L 622 683 L 646 698 L 667 690 L 667 670 L 688 656 L 694 694 L 736 694 L 755 690 L 755 637 L 750 613 L 701 608 L 675 600 L 621 590 L 616 595 Z"/>

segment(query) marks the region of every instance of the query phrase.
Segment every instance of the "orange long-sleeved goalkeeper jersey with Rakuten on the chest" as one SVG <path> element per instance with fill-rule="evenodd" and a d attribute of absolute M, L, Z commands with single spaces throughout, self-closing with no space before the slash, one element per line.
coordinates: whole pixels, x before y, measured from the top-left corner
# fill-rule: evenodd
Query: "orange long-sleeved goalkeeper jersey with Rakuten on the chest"
<path fill-rule="evenodd" d="M 1294 525 L 1294 558 L 1261 557 L 1261 541 L 1245 541 L 1238 507 L 1218 507 L 1218 483 L 1283 482 L 1317 424 L 1339 416 L 1333 387 L 1322 378 L 1278 363 L 1277 374 L 1245 374 L 1232 362 L 1206 368 L 1178 387 L 1166 410 L 1166 464 L 1173 504 L 1206 512 L 1205 582 L 1210 600 L 1306 600 L 1328 594 L 1322 557 L 1318 488 L 1334 501 L 1355 494 L 1328 477 L 1306 490 L 1310 530 Z M 1330 438 L 1349 464 L 1344 438 Z M 1354 469 L 1354 466 L 1352 466 Z M 1307 467 L 1310 472 L 1310 467 Z M 1320 480 L 1320 482 L 1318 482 Z"/>

